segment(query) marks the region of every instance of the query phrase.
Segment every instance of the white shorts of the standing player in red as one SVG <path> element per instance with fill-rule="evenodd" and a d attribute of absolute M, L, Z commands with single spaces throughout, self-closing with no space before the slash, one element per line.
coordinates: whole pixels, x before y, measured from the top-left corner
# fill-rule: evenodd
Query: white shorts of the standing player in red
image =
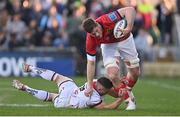
<path fill-rule="evenodd" d="M 112 66 L 119 67 L 119 59 L 117 59 L 119 57 L 125 62 L 137 61 L 137 64 L 139 63 L 138 53 L 132 34 L 126 40 L 121 42 L 101 44 L 101 50 L 105 68 Z"/>

